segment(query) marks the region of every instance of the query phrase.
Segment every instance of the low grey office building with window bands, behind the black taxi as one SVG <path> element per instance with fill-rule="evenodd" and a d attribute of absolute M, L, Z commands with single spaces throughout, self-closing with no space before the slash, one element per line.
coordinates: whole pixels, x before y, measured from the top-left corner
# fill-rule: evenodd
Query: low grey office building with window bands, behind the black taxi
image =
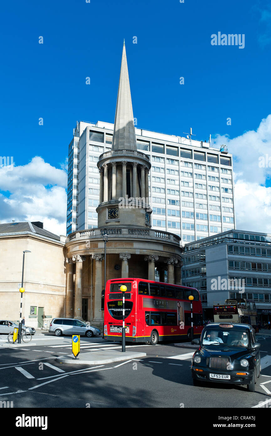
<path fill-rule="evenodd" d="M 206 318 L 214 303 L 247 298 L 258 319 L 271 320 L 271 235 L 234 230 L 186 244 L 182 280 L 200 290 Z"/>

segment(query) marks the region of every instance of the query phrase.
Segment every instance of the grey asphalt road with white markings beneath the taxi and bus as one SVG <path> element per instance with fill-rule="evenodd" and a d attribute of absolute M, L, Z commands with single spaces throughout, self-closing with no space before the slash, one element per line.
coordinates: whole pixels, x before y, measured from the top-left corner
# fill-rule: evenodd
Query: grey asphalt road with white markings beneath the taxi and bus
<path fill-rule="evenodd" d="M 257 408 L 271 407 L 271 336 L 261 343 L 261 377 L 255 392 L 246 386 L 193 386 L 193 349 L 173 343 L 132 344 L 146 358 L 105 365 L 73 366 L 55 358 L 71 354 L 71 337 L 36 336 L 37 345 L 0 347 L 0 401 L 14 408 Z M 81 353 L 121 347 L 101 338 L 81 338 Z M 95 351 L 94 351 L 95 352 Z M 11 404 L 11 403 L 10 403 Z"/>

